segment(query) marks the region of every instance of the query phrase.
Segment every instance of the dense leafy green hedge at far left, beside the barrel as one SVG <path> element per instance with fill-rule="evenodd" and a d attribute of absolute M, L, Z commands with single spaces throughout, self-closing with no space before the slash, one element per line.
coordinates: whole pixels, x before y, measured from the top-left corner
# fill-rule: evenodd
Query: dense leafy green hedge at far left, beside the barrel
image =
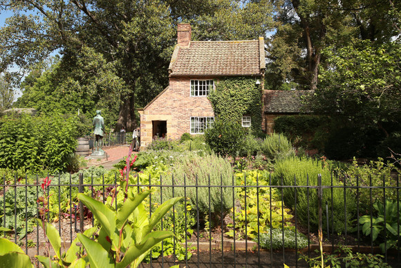
<path fill-rule="evenodd" d="M 77 145 L 75 121 L 60 116 L 5 116 L 0 122 L 0 168 L 66 170 Z"/>

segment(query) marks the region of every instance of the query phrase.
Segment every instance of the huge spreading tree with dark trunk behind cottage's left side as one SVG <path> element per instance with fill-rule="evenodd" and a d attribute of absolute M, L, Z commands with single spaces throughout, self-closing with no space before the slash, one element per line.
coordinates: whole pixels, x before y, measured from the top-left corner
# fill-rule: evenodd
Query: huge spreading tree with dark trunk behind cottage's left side
<path fill-rule="evenodd" d="M 176 22 L 189 21 L 196 28 L 199 21 L 202 28 L 207 21 L 199 39 L 216 38 L 207 31 L 210 27 L 231 30 L 226 37 L 218 35 L 221 39 L 257 37 L 268 26 L 256 27 L 250 19 L 258 11 L 255 5 L 239 0 L 0 0 L 2 8 L 15 13 L 0 29 L 0 70 L 12 64 L 29 69 L 57 49 L 62 62 L 74 63 L 83 49 L 91 48 L 113 62 L 115 75 L 124 82 L 117 129 L 131 130 L 136 102 L 146 104 L 167 85 Z M 271 14 L 267 4 L 262 11 L 257 13 L 262 19 Z"/>

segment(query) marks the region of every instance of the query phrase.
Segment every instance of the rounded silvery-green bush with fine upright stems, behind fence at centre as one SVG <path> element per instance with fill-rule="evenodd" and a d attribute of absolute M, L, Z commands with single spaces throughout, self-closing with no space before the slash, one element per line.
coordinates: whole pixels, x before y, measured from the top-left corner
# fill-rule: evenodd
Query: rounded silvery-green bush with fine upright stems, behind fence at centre
<path fill-rule="evenodd" d="M 175 163 L 170 171 L 174 175 L 174 185 L 177 186 L 174 188 L 175 196 L 185 196 L 184 190 L 186 190 L 186 196 L 190 198 L 192 206 L 198 208 L 202 220 L 209 215 L 210 209 L 211 220 L 216 223 L 222 213 L 224 217 L 232 208 L 232 189 L 218 187 L 232 185 L 232 167 L 226 159 L 218 157 L 216 154 L 205 157 L 185 157 Z M 212 186 L 210 194 L 207 187 L 184 189 L 184 185 L 195 186 L 196 179 L 198 186 Z M 196 189 L 198 190 L 198 200 L 196 200 Z M 221 191 L 223 191 L 222 194 Z M 171 188 L 163 189 L 163 192 L 166 193 L 167 198 L 172 197 Z"/>

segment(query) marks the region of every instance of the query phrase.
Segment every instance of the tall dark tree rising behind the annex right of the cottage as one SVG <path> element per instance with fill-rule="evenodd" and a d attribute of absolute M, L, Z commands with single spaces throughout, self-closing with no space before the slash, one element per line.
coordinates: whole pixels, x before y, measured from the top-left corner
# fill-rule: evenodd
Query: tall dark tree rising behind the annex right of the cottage
<path fill-rule="evenodd" d="M 347 46 L 356 39 L 388 42 L 395 33 L 389 0 L 284 0 L 276 4 L 278 26 L 268 46 L 268 70 L 281 82 L 292 80 L 308 89 L 317 87 L 319 65 L 325 61 L 322 49 Z"/>

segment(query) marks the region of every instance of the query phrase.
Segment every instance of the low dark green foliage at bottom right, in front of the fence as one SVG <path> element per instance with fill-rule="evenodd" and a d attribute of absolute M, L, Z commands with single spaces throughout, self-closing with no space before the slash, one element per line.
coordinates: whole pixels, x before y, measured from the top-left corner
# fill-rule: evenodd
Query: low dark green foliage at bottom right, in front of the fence
<path fill-rule="evenodd" d="M 316 250 L 317 253 L 319 251 Z M 337 249 L 335 249 L 334 254 L 328 254 L 326 252 L 322 253 L 324 260 L 324 267 L 333 267 L 333 268 L 341 268 L 341 267 L 350 267 L 350 268 L 360 268 L 360 267 L 384 267 L 391 268 L 386 262 L 383 261 L 384 256 L 382 255 L 373 255 L 371 253 L 365 254 L 356 252 L 354 253 L 351 247 L 341 246 L 339 245 Z M 310 267 L 313 268 L 324 268 L 321 267 L 321 256 L 311 258 L 308 255 L 301 254 L 299 260 L 305 260 L 308 262 Z"/>

